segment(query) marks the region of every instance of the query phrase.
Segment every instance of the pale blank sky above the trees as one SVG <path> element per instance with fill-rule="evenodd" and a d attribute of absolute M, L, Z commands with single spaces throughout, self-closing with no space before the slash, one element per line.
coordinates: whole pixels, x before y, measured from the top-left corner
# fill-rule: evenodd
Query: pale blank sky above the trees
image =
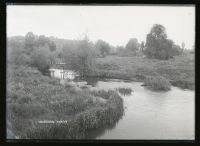
<path fill-rule="evenodd" d="M 8 5 L 7 36 L 33 32 L 36 35 L 93 42 L 102 39 L 113 46 L 125 46 L 130 38 L 146 42 L 154 24 L 166 28 L 175 44 L 195 43 L 195 7 L 190 6 L 45 6 Z"/>

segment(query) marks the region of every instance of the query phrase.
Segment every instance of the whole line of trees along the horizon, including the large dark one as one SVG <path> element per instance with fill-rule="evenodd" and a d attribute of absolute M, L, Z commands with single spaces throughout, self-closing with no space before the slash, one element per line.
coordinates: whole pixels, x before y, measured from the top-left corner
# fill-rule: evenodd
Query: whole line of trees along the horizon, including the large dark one
<path fill-rule="evenodd" d="M 180 47 L 168 39 L 165 27 L 160 24 L 153 25 L 146 43 L 131 38 L 125 47 L 114 47 L 103 40 L 93 43 L 87 36 L 83 40 L 61 40 L 28 32 L 25 37 L 7 39 L 7 58 L 8 63 L 33 66 L 43 74 L 47 74 L 57 60 L 62 60 L 67 68 L 84 76 L 95 70 L 95 58 L 98 57 L 143 55 L 167 60 L 182 54 L 184 46 Z"/>

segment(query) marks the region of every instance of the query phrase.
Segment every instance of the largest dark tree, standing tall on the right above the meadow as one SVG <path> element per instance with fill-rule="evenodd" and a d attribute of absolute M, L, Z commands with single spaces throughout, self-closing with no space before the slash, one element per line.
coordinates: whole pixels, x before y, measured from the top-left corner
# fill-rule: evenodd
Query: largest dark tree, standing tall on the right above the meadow
<path fill-rule="evenodd" d="M 149 58 L 169 59 L 177 55 L 177 46 L 172 40 L 167 39 L 165 27 L 155 24 L 147 34 L 144 53 Z"/>

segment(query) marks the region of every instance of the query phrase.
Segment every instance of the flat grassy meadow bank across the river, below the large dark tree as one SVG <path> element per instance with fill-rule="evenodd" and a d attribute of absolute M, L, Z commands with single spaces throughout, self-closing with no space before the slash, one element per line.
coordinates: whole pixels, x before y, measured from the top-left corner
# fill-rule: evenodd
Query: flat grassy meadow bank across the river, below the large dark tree
<path fill-rule="evenodd" d="M 194 72 L 194 54 L 189 53 L 170 60 L 107 56 L 97 59 L 96 73 L 91 76 L 142 82 L 148 76 L 163 76 L 174 86 L 193 90 Z"/>

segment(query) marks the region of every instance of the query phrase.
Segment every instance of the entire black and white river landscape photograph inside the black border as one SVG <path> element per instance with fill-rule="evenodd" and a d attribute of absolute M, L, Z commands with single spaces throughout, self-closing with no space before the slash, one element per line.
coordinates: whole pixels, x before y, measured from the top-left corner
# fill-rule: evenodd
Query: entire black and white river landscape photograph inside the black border
<path fill-rule="evenodd" d="M 7 4 L 6 139 L 194 140 L 195 5 Z"/>

